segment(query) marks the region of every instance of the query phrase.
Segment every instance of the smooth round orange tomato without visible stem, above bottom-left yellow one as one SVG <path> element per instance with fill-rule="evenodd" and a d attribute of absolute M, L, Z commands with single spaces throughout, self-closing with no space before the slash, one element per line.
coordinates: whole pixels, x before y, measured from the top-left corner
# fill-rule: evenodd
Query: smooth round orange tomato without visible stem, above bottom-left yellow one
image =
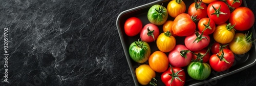
<path fill-rule="evenodd" d="M 148 64 L 156 72 L 164 72 L 169 67 L 168 57 L 165 53 L 161 51 L 155 51 L 148 58 Z"/>

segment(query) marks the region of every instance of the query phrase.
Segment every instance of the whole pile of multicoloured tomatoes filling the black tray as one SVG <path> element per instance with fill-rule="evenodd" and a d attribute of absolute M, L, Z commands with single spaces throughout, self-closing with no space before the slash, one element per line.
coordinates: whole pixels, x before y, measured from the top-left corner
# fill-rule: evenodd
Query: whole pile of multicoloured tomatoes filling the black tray
<path fill-rule="evenodd" d="M 173 0 L 167 8 L 154 5 L 148 9 L 150 24 L 144 27 L 137 17 L 127 19 L 125 34 L 139 34 L 141 39 L 129 48 L 130 57 L 144 63 L 136 69 L 138 82 L 156 85 L 154 77 L 158 72 L 165 85 L 184 85 L 185 72 L 193 79 L 204 80 L 211 71 L 231 68 L 234 55 L 247 53 L 254 41 L 251 33 L 236 32 L 249 30 L 255 19 L 253 12 L 241 4 L 242 0 L 195 0 L 185 13 L 185 3 Z M 184 45 L 177 44 L 177 37 L 184 37 Z M 150 46 L 157 46 L 158 51 L 151 53 Z"/>

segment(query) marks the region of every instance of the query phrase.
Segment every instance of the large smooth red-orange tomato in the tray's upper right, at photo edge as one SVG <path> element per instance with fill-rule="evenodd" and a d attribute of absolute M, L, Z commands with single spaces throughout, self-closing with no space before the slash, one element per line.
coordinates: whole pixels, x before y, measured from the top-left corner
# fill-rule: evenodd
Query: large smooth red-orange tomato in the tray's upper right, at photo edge
<path fill-rule="evenodd" d="M 239 31 L 245 31 L 250 29 L 254 24 L 254 14 L 247 7 L 239 7 L 234 9 L 229 18 L 229 23 L 231 25 L 236 24 L 234 29 Z"/>

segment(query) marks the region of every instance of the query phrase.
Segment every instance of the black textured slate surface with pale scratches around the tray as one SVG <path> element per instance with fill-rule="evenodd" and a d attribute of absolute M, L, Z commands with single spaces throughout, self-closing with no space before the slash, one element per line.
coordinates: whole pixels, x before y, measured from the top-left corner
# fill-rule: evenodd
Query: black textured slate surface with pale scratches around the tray
<path fill-rule="evenodd" d="M 0 1 L 0 85 L 134 85 L 116 18 L 153 1 Z M 256 14 L 256 1 L 246 2 Z M 210 85 L 255 85 L 255 67 Z"/>

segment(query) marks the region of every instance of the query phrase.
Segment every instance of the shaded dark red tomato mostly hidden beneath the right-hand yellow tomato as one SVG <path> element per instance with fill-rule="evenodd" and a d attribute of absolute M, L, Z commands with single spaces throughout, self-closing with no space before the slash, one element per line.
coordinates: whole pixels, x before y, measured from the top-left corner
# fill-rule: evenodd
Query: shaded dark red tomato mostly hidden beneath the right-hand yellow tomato
<path fill-rule="evenodd" d="M 220 52 L 220 48 L 228 49 L 228 46 L 215 41 L 214 44 L 211 46 L 210 51 L 212 54 L 217 54 Z"/>

